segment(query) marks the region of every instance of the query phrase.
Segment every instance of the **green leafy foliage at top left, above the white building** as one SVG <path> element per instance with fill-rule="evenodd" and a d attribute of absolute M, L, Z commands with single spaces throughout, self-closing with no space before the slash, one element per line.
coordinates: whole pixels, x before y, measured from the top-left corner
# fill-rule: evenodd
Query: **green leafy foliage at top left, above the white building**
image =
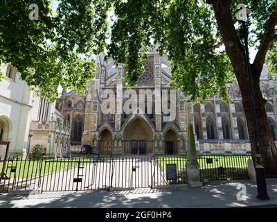
<path fill-rule="evenodd" d="M 16 67 L 30 89 L 49 101 L 59 85 L 84 92 L 107 32 L 105 1 L 97 1 L 98 8 L 93 2 L 60 0 L 54 14 L 51 0 L 37 0 L 39 17 L 32 20 L 33 1 L 2 0 L 0 65 Z"/>

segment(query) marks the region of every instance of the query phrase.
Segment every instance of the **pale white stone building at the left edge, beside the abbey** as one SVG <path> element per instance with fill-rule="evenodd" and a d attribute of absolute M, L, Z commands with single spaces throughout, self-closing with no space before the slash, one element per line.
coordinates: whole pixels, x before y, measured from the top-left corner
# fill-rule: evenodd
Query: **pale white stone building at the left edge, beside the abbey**
<path fill-rule="evenodd" d="M 0 81 L 0 141 L 10 142 L 10 154 L 26 155 L 33 146 L 46 147 L 48 155 L 67 155 L 70 151 L 69 126 L 55 103 L 35 96 L 20 79 L 15 67 L 1 66 Z M 0 155 L 6 146 L 0 145 Z"/>

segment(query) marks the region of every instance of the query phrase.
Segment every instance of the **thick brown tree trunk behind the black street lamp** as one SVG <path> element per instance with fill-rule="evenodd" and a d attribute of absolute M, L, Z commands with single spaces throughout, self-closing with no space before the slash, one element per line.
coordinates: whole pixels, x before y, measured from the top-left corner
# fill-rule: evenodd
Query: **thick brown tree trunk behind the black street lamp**
<path fill-rule="evenodd" d="M 235 26 L 233 24 L 233 15 L 230 10 L 230 0 L 213 0 L 207 1 L 207 3 L 213 4 L 215 12 L 215 18 L 217 25 L 224 42 L 226 53 L 231 60 L 231 65 L 235 72 L 235 76 L 240 86 L 240 92 L 242 94 L 242 104 L 244 108 L 244 114 L 247 119 L 247 126 L 249 130 L 249 139 L 251 142 L 251 153 L 253 160 L 255 158 L 255 144 L 254 144 L 254 130 L 251 112 L 251 100 L 249 96 L 249 81 L 247 77 L 247 65 L 244 56 L 244 47 L 240 43 Z M 274 143 L 273 136 L 269 130 L 269 123 L 267 120 L 267 112 L 265 110 L 266 100 L 262 98 L 262 92 L 260 92 L 260 74 L 262 72 L 262 64 L 265 59 L 259 61 L 260 66 L 258 68 L 251 65 L 251 71 L 253 76 L 253 91 L 256 105 L 256 122 L 258 127 L 258 141 L 260 144 L 260 153 L 262 154 L 262 162 L 265 164 L 267 176 L 277 175 L 277 148 Z"/>

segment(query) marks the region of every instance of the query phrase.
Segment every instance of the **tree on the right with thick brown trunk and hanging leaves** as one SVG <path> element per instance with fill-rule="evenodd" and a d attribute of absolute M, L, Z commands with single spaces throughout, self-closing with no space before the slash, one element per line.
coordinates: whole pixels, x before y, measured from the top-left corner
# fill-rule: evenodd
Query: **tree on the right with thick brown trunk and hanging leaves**
<path fill-rule="evenodd" d="M 192 101 L 204 101 L 210 96 L 226 94 L 226 83 L 233 77 L 238 81 L 242 94 L 244 113 L 249 129 L 253 158 L 253 123 L 249 97 L 244 46 L 240 38 L 239 24 L 235 20 L 238 1 L 209 0 L 152 0 L 115 1 L 116 22 L 111 28 L 109 56 L 118 63 L 127 65 L 127 79 L 135 85 L 141 61 L 145 58 L 142 47 L 151 45 L 151 39 L 159 43 L 159 52 L 165 53 L 172 64 L 175 87 Z M 270 70 L 276 68 L 276 23 L 277 1 L 248 0 L 251 8 L 251 44 L 258 53 L 251 64 L 253 88 L 255 91 L 256 113 L 260 139 L 260 152 L 265 167 L 274 164 L 277 170 L 277 149 L 269 130 L 266 100 L 260 90 L 260 74 L 268 56 Z M 219 49 L 224 45 L 224 49 Z"/>

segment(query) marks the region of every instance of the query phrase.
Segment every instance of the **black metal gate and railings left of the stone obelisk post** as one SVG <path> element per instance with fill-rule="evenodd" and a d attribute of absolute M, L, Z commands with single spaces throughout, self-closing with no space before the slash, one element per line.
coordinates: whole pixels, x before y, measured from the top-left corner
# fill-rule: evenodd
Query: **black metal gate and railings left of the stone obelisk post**
<path fill-rule="evenodd" d="M 176 178 L 168 179 L 166 176 L 168 164 L 176 165 Z M 136 189 L 187 182 L 184 156 L 136 155 L 39 160 L 10 157 L 7 166 L 6 178 L 0 178 L 0 192 L 35 188 L 42 191 Z"/>

